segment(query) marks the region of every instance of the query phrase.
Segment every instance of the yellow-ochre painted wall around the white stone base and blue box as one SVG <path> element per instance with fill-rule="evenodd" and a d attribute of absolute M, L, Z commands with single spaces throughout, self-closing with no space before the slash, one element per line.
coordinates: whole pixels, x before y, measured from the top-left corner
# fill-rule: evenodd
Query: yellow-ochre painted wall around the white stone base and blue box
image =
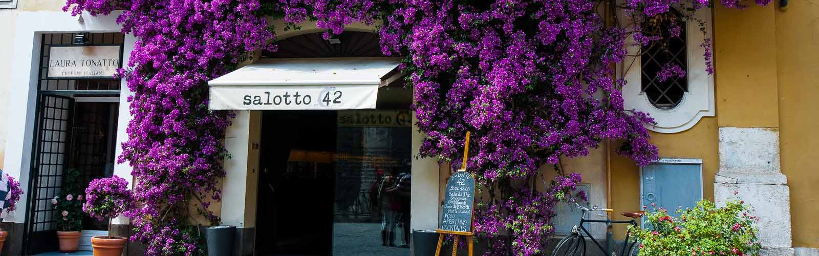
<path fill-rule="evenodd" d="M 776 2 L 775 2 L 776 3 Z M 788 176 L 794 247 L 819 247 L 819 6 L 714 10 L 717 117 L 677 134 L 652 133 L 661 157 L 703 159 L 704 196 L 713 199 L 718 127 L 780 128 L 781 170 Z M 639 167 L 612 154 L 612 208 L 640 208 Z M 615 217 L 625 219 L 624 217 Z M 622 239 L 624 229 L 616 234 Z"/>

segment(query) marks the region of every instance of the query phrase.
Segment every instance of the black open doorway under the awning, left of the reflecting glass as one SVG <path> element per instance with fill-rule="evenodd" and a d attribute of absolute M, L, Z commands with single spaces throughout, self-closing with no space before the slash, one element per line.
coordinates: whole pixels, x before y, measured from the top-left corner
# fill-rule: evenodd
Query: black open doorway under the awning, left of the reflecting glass
<path fill-rule="evenodd" d="M 256 255 L 330 255 L 335 111 L 262 116 Z"/>

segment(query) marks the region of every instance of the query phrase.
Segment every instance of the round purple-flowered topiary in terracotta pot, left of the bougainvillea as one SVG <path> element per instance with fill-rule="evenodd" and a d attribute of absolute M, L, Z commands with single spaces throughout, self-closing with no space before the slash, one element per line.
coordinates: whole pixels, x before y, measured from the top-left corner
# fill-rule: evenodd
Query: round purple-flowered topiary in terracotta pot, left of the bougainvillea
<path fill-rule="evenodd" d="M 128 181 L 119 176 L 96 179 L 85 190 L 83 211 L 102 221 L 108 218 L 108 235 L 94 236 L 91 246 L 95 256 L 119 256 L 125 246 L 125 238 L 111 235 L 111 219 L 133 208 L 133 193 Z"/>

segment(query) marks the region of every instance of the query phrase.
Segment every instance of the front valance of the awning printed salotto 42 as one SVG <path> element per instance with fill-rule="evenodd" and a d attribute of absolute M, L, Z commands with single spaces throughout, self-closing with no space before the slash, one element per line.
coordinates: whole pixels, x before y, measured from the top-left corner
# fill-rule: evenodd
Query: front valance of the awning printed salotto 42
<path fill-rule="evenodd" d="M 375 108 L 378 85 L 210 86 L 213 110 Z"/>

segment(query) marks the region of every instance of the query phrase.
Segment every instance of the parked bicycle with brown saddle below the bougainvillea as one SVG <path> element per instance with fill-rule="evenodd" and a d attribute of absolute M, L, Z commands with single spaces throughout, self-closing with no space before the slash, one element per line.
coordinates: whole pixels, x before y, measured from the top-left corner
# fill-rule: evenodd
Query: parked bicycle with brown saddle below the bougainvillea
<path fill-rule="evenodd" d="M 640 217 L 643 217 L 643 214 L 645 213 L 643 211 L 624 212 L 624 213 L 622 213 L 622 216 L 624 216 L 624 217 L 631 217 L 631 221 L 612 221 L 608 217 L 606 217 L 606 220 L 590 220 L 590 219 L 586 219 L 586 213 L 591 214 L 593 212 L 600 212 L 597 215 L 600 216 L 600 217 L 603 217 L 603 216 L 606 216 L 605 213 L 611 213 L 614 210 L 609 209 L 609 208 L 597 208 L 596 205 L 593 206 L 592 208 L 585 208 L 585 207 L 581 206 L 580 203 L 577 203 L 573 199 L 572 199 L 572 203 L 574 203 L 575 208 L 579 208 L 579 209 L 581 209 L 581 211 L 583 211 L 583 214 L 582 214 L 582 216 L 580 218 L 580 223 L 577 224 L 576 226 L 573 226 L 572 227 L 572 232 L 569 235 L 566 235 L 566 237 L 563 237 L 563 239 L 560 240 L 560 242 L 558 242 L 558 245 L 554 247 L 554 251 L 552 252 L 552 256 L 585 256 L 586 255 L 586 239 L 584 238 L 584 235 L 581 233 L 581 231 L 583 233 L 586 233 L 586 236 L 588 236 L 589 239 L 592 242 L 594 242 L 595 245 L 597 245 L 597 248 L 600 249 L 601 252 L 603 252 L 603 255 L 617 256 L 618 254 L 616 252 L 612 252 L 611 254 L 609 254 L 608 249 L 604 249 L 604 246 L 600 245 L 600 242 L 597 239 L 595 239 L 595 237 L 593 235 L 591 235 L 591 233 L 589 231 L 586 230 L 586 227 L 583 226 L 583 223 L 586 223 L 586 222 L 606 223 L 607 225 L 610 225 L 610 224 L 613 224 L 613 223 L 620 223 L 620 224 L 631 224 L 631 225 L 637 226 L 636 219 L 640 218 Z M 638 241 L 635 240 L 634 242 L 629 243 L 628 242 L 628 235 L 629 235 L 629 233 L 626 232 L 626 240 L 623 241 L 623 245 L 622 245 L 622 248 L 620 249 L 620 254 L 619 255 L 627 255 L 627 256 L 637 255 L 637 250 L 639 249 L 639 246 L 637 246 Z M 616 251 L 616 249 L 613 249 L 613 250 Z M 625 254 L 626 252 L 628 252 L 628 254 Z"/>

